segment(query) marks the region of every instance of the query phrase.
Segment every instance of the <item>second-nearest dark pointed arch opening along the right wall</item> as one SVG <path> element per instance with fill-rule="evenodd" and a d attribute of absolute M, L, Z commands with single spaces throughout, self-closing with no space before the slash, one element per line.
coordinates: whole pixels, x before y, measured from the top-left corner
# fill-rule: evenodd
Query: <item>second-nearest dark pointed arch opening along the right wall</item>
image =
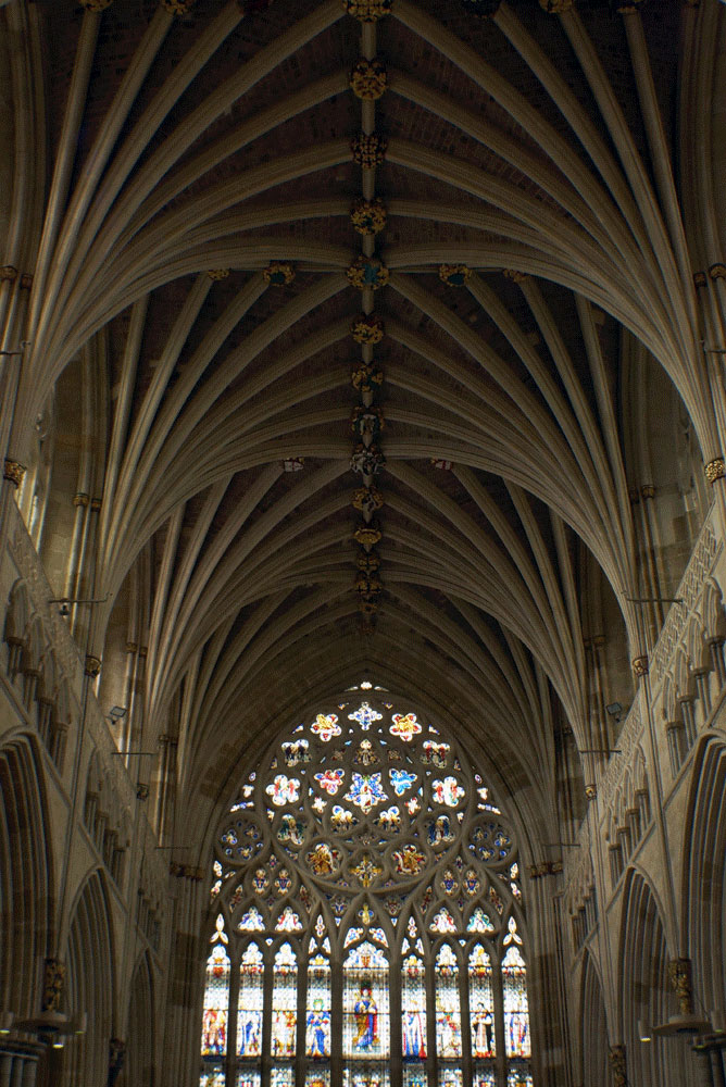
<path fill-rule="evenodd" d="M 623 895 L 619 953 L 621 1022 L 626 1045 L 628 1080 L 681 1087 L 690 1083 L 690 1051 L 683 1038 L 641 1041 L 639 1024 L 656 1026 L 678 1011 L 668 980 L 665 932 L 655 895 L 647 880 L 629 869 Z"/>

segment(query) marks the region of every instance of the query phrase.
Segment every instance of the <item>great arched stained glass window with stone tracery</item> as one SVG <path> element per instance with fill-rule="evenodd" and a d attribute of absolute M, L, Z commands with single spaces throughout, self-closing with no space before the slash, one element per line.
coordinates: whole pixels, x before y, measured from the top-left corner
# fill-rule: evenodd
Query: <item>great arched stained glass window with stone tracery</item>
<path fill-rule="evenodd" d="M 458 741 L 365 695 L 220 827 L 200 1087 L 533 1087 L 514 837 Z"/>

